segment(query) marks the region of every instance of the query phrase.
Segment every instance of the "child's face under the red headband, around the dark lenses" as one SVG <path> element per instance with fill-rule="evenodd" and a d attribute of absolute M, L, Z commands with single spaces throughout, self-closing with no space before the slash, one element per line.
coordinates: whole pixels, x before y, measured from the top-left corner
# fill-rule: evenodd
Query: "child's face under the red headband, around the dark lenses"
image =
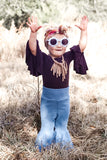
<path fill-rule="evenodd" d="M 55 38 L 55 39 L 52 39 Z M 65 38 L 65 39 L 64 39 Z M 49 38 L 50 39 L 50 38 Z M 48 40 L 49 40 L 48 39 Z M 57 58 L 57 57 L 61 57 L 65 51 L 66 51 L 66 45 L 62 45 L 61 41 L 62 39 L 64 39 L 64 43 L 66 43 L 66 37 L 62 34 L 55 34 L 51 37 L 53 44 L 55 43 L 55 41 L 57 41 L 56 45 L 51 45 L 51 42 L 48 41 L 48 50 L 49 53 L 51 54 L 51 56 Z"/>

